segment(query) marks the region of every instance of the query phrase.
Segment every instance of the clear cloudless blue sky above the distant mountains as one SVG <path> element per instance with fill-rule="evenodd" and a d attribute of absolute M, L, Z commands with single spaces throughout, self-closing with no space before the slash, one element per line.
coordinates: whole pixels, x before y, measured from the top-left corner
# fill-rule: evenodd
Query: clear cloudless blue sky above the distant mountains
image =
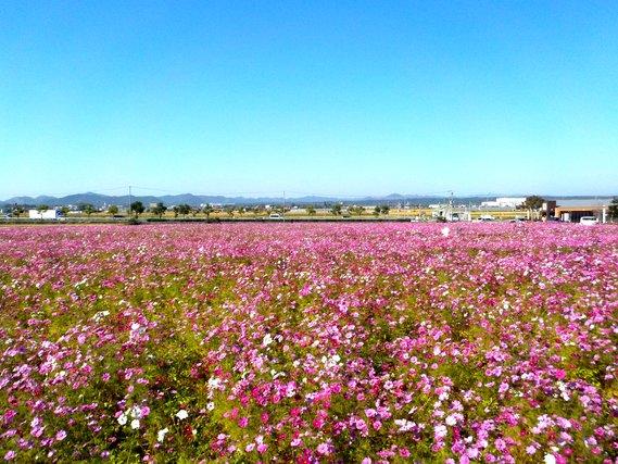
<path fill-rule="evenodd" d="M 618 193 L 618 2 L 2 1 L 0 170 L 0 199 Z"/>

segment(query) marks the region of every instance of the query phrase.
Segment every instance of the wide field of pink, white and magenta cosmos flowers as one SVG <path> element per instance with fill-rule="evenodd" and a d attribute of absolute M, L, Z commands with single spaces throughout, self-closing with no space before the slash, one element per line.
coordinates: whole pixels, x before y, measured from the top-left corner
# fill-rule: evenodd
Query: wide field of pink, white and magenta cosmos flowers
<path fill-rule="evenodd" d="M 0 228 L 0 460 L 615 462 L 618 227 Z"/>

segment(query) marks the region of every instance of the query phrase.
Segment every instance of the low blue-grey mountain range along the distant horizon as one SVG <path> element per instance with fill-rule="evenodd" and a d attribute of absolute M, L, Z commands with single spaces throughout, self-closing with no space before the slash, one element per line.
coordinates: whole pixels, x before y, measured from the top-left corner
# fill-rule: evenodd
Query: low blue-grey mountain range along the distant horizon
<path fill-rule="evenodd" d="M 500 196 L 500 195 L 497 195 Z M 525 197 L 525 196 L 519 196 Z M 480 203 L 481 201 L 495 198 L 495 196 L 472 196 L 472 197 L 455 197 L 454 201 L 459 204 L 468 203 Z M 610 198 L 610 196 L 570 196 L 570 197 L 556 197 L 556 196 L 544 196 L 547 200 L 550 199 L 601 199 Z M 144 205 L 150 203 L 163 202 L 166 205 L 175 204 L 190 204 L 191 206 L 198 206 L 200 204 L 211 203 L 211 204 L 281 204 L 286 202 L 289 205 L 292 204 L 324 204 L 333 202 L 343 202 L 346 204 L 362 203 L 367 205 L 379 204 L 383 202 L 389 203 L 411 203 L 411 204 L 430 204 L 437 202 L 444 202 L 446 200 L 445 196 L 418 196 L 418 195 L 401 195 L 401 193 L 390 193 L 384 197 L 363 197 L 363 198 L 344 198 L 344 197 L 319 197 L 319 196 L 305 196 L 299 198 L 287 198 L 282 197 L 257 197 L 257 198 L 245 198 L 245 197 L 225 197 L 225 196 L 207 196 L 207 195 L 193 195 L 193 193 L 181 193 L 181 195 L 165 195 L 161 197 L 154 196 L 131 196 L 129 199 L 128 195 L 124 196 L 108 196 L 101 193 L 86 192 L 86 193 L 75 193 L 68 195 L 66 197 L 13 197 L 4 201 L 0 201 L 0 205 L 9 204 L 22 204 L 22 205 L 39 205 L 47 204 L 48 206 L 63 206 L 63 205 L 77 205 L 80 203 L 90 203 L 97 208 L 116 204 L 116 205 L 128 205 L 130 201 L 141 201 Z"/>

